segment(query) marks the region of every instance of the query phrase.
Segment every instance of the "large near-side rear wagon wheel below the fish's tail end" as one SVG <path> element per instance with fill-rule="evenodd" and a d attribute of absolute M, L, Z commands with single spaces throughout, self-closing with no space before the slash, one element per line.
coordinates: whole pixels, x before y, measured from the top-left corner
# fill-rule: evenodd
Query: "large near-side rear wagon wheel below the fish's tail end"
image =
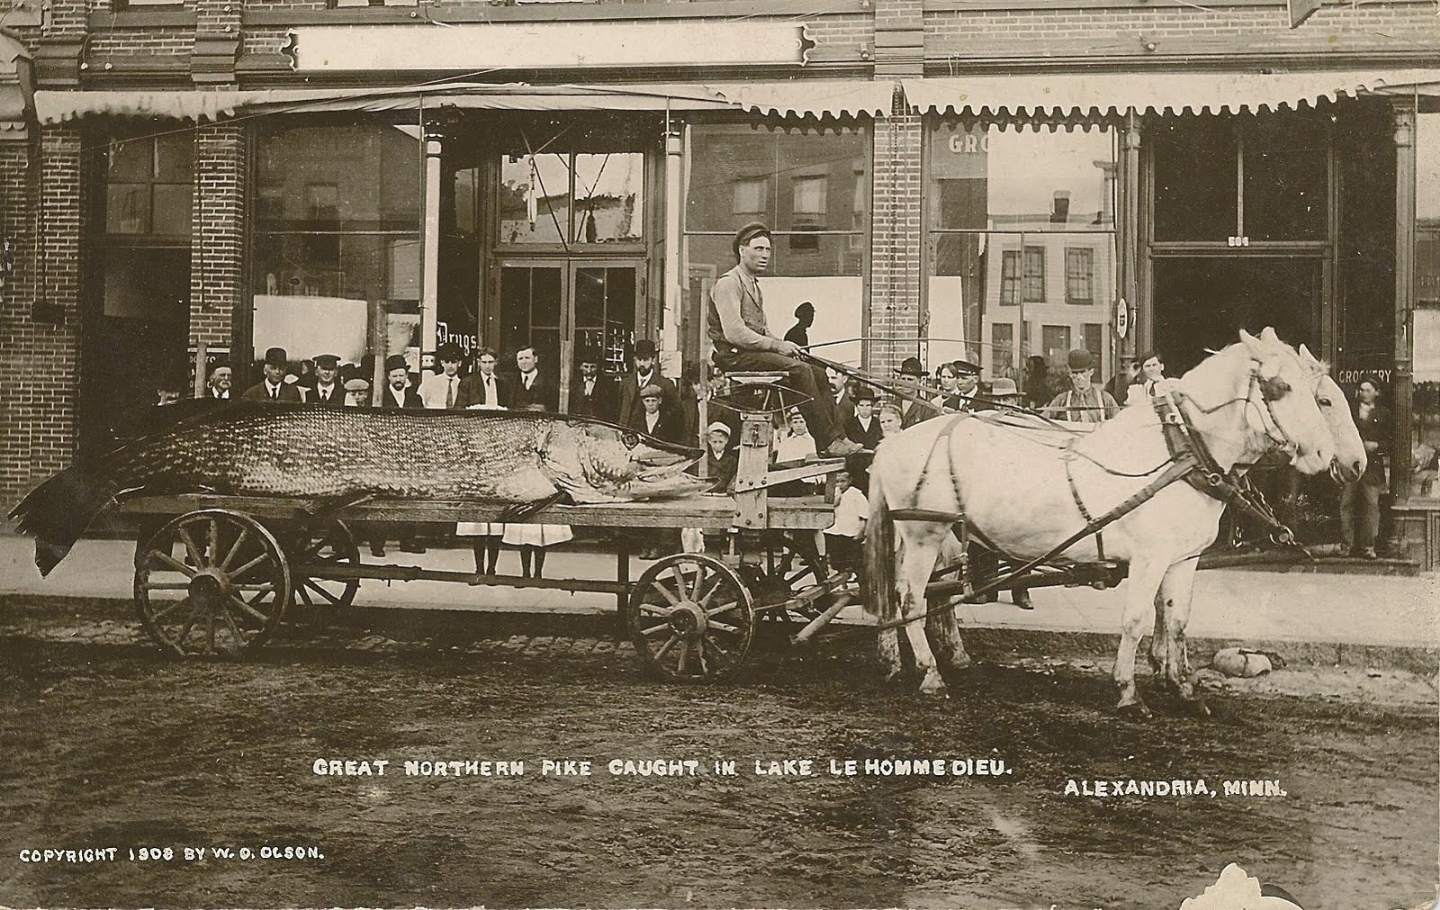
<path fill-rule="evenodd" d="M 179 592 L 179 600 L 153 599 Z M 179 657 L 253 651 L 292 595 L 275 536 L 249 515 L 206 508 L 174 518 L 135 550 L 135 609 L 151 639 Z"/>

